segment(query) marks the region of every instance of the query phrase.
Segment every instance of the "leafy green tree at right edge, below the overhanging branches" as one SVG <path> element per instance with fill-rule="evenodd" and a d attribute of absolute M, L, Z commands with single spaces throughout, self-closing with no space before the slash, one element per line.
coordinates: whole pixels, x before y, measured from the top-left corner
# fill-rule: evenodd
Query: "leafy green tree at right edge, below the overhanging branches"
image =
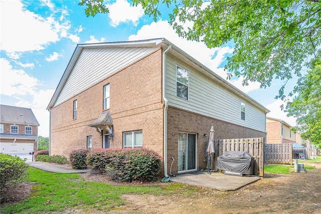
<path fill-rule="evenodd" d="M 288 116 L 296 118 L 293 130 L 321 147 L 321 61 L 315 63 L 294 91 L 298 95 L 286 105 Z"/>

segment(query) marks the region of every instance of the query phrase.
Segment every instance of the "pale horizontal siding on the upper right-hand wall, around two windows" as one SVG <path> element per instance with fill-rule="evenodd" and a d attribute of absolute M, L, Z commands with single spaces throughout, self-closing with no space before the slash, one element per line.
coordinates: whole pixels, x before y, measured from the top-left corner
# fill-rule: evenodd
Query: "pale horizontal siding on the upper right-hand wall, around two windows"
<path fill-rule="evenodd" d="M 176 66 L 189 71 L 189 100 L 176 96 Z M 166 97 L 169 105 L 218 120 L 265 132 L 265 112 L 232 93 L 228 87 L 197 72 L 195 68 L 171 57 L 166 62 Z M 214 78 L 214 77 L 213 77 Z M 245 103 L 245 120 L 241 119 L 240 101 Z"/>

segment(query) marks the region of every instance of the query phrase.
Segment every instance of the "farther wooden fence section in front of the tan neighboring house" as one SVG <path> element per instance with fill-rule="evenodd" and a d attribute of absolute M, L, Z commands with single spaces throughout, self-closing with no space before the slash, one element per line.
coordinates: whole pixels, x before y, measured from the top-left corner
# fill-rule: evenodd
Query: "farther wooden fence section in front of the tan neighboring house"
<path fill-rule="evenodd" d="M 265 144 L 265 163 L 282 163 L 292 165 L 292 144 Z"/>

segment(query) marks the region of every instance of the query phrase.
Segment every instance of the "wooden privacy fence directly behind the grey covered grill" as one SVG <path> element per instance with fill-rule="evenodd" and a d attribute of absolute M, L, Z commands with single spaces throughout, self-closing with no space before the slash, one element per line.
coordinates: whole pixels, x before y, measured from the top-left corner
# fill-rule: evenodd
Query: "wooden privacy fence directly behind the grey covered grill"
<path fill-rule="evenodd" d="M 217 157 L 226 151 L 247 152 L 254 157 L 254 175 L 263 177 L 263 149 L 264 138 L 244 138 L 244 139 L 215 139 L 214 140 L 214 170 L 217 169 Z"/>

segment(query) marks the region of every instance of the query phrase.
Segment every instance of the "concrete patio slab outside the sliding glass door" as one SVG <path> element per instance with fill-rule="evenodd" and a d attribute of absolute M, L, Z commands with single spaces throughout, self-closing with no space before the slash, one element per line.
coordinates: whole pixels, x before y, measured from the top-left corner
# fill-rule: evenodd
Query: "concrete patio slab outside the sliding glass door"
<path fill-rule="evenodd" d="M 212 188 L 220 191 L 235 191 L 250 183 L 260 180 L 256 176 L 225 175 L 221 172 L 196 172 L 171 176 L 170 181 Z"/>

